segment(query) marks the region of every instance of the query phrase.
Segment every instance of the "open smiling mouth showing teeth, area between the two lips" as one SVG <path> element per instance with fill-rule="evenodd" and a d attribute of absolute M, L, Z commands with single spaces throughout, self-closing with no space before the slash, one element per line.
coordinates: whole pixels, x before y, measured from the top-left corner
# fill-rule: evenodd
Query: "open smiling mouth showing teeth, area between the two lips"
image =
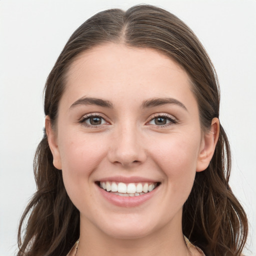
<path fill-rule="evenodd" d="M 138 196 L 151 192 L 160 182 L 123 183 L 114 181 L 98 181 L 96 184 L 109 193 L 120 196 Z"/>

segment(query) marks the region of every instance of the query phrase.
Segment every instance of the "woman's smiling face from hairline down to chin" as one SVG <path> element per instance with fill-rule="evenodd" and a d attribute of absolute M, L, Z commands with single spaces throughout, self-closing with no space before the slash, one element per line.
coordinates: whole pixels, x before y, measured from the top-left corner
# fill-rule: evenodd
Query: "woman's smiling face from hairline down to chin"
<path fill-rule="evenodd" d="M 208 163 L 189 78 L 173 60 L 114 43 L 82 53 L 57 127 L 46 118 L 46 128 L 81 228 L 120 238 L 181 230 L 195 172 Z"/>

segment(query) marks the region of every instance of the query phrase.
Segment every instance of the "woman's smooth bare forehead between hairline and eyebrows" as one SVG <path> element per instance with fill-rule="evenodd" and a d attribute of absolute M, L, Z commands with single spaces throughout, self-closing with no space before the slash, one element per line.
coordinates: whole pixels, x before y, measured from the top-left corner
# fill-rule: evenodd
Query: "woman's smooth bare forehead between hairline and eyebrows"
<path fill-rule="evenodd" d="M 141 96 L 180 97 L 191 91 L 188 75 L 168 56 L 152 48 L 107 43 L 76 57 L 66 75 L 65 93 L 72 100 L 97 96 L 135 102 Z"/>

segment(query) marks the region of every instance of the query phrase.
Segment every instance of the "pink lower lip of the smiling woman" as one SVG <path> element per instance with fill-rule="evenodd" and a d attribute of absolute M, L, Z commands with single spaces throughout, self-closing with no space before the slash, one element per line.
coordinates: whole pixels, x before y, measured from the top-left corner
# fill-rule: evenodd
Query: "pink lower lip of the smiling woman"
<path fill-rule="evenodd" d="M 158 189 L 158 186 L 155 187 L 152 191 L 147 192 L 145 194 L 137 195 L 137 196 L 120 196 L 114 193 L 110 193 L 100 188 L 97 185 L 99 192 L 101 195 L 110 203 L 120 206 L 120 207 L 135 207 L 139 206 L 145 201 L 149 200 Z"/>

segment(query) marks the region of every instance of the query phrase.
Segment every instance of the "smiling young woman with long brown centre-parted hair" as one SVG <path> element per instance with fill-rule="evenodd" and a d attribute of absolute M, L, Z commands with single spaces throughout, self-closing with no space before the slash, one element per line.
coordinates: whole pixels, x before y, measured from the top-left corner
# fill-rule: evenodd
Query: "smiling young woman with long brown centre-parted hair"
<path fill-rule="evenodd" d="M 19 256 L 241 254 L 217 77 L 176 16 L 137 5 L 89 18 L 48 76 L 44 112 Z"/>

